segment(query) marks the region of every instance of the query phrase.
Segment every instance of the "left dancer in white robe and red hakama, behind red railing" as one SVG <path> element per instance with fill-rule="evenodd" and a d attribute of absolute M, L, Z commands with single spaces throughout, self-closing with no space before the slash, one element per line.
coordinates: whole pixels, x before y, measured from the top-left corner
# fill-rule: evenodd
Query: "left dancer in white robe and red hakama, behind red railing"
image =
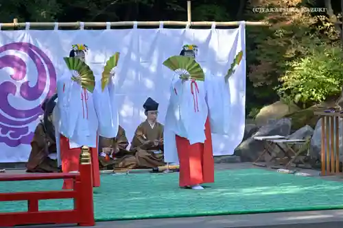
<path fill-rule="evenodd" d="M 85 60 L 86 45 L 73 45 L 70 57 Z M 54 124 L 56 129 L 56 145 L 62 172 L 77 172 L 80 162 L 81 147 L 87 146 L 91 151 L 93 186 L 100 186 L 99 161 L 97 151 L 97 140 L 99 134 L 106 137 L 117 135 L 117 121 L 110 118 L 117 117 L 114 112 L 110 117 L 104 114 L 104 102 L 109 103 L 108 93 L 103 92 L 95 83 L 93 93 L 71 77 L 78 77 L 77 72 L 65 71 L 57 81 L 58 101 L 54 109 Z M 101 110 L 99 108 L 102 107 Z M 112 113 L 112 112 L 111 112 Z M 102 118 L 99 115 L 102 114 Z M 104 123 L 105 122 L 105 123 Z M 106 126 L 107 127 L 104 127 Z M 59 139 L 58 139 L 59 138 Z M 71 179 L 64 180 L 64 189 L 73 188 Z"/>

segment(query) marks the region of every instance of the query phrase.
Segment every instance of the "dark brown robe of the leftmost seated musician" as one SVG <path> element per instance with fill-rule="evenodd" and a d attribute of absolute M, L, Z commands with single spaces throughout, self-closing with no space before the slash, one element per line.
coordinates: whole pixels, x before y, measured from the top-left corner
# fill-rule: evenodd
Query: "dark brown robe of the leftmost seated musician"
<path fill-rule="evenodd" d="M 57 160 L 52 160 L 49 153 L 56 153 L 56 139 L 45 134 L 43 123 L 38 123 L 31 142 L 31 153 L 27 161 L 28 173 L 58 173 Z"/>

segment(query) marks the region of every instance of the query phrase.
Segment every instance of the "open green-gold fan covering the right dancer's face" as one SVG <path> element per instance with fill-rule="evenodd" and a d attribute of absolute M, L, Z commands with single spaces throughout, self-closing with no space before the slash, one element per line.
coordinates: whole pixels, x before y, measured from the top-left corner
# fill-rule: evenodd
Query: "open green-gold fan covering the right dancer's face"
<path fill-rule="evenodd" d="M 174 55 L 165 60 L 163 65 L 167 66 L 171 71 L 175 71 L 180 77 L 188 75 L 189 78 L 198 81 L 204 81 L 205 79 L 204 71 L 194 58 Z"/>

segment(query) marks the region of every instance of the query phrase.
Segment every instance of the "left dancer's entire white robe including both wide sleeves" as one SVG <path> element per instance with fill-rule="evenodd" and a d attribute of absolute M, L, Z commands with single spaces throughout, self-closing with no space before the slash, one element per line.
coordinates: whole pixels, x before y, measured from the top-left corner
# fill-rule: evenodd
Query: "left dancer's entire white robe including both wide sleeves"
<path fill-rule="evenodd" d="M 69 138 L 71 148 L 97 147 L 97 134 L 106 138 L 117 136 L 119 121 L 112 80 L 104 92 L 101 81 L 95 81 L 93 94 L 86 90 L 88 99 L 85 101 L 82 100 L 85 97 L 84 89 L 71 80 L 71 71 L 65 71 L 57 81 L 57 92 L 53 122 L 58 166 L 61 164 L 60 134 Z"/>

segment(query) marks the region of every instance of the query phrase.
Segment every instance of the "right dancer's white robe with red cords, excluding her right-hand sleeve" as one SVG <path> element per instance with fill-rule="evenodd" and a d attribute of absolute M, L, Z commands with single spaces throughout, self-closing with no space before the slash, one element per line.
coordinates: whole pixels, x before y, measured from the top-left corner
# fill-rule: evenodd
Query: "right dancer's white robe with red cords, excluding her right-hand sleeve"
<path fill-rule="evenodd" d="M 204 143 L 208 116 L 205 96 L 203 81 L 182 82 L 179 75 L 174 75 L 163 132 L 165 162 L 178 163 L 176 135 L 187 138 L 190 144 Z"/>

